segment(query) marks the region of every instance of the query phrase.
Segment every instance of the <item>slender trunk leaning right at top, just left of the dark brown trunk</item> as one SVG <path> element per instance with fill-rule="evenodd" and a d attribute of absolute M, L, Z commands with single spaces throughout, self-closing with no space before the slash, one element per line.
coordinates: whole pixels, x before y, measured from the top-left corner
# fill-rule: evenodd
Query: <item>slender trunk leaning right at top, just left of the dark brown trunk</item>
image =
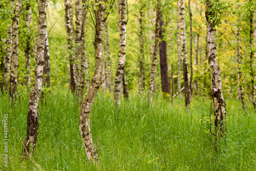
<path fill-rule="evenodd" d="M 159 38 L 160 17 L 161 17 L 161 1 L 157 0 L 157 12 L 156 12 L 156 24 L 155 24 L 155 43 L 154 43 L 154 50 L 152 53 L 150 87 L 148 90 L 148 101 L 149 102 L 152 102 L 153 91 L 154 91 L 154 87 L 155 87 L 155 70 L 156 70 L 156 61 L 157 61 L 157 48 L 158 48 L 158 38 Z"/>

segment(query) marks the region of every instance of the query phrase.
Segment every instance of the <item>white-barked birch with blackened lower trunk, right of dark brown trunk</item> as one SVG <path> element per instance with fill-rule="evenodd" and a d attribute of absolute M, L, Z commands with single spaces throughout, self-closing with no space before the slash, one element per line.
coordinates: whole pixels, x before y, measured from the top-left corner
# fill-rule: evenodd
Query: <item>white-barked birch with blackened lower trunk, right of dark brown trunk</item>
<path fill-rule="evenodd" d="M 189 109 L 189 105 L 191 101 L 191 91 L 189 86 L 188 65 L 187 65 L 184 0 L 180 0 L 180 38 L 181 38 L 181 57 L 182 57 L 182 63 L 183 63 L 185 105 L 187 109 Z"/>

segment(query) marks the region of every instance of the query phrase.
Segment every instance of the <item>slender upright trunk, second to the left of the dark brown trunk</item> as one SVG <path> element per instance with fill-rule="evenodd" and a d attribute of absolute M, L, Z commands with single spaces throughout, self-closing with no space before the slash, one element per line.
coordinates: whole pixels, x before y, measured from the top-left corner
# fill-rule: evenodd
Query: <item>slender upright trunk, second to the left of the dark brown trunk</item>
<path fill-rule="evenodd" d="M 144 13 L 143 13 L 143 7 L 144 5 L 140 5 L 140 16 L 139 16 L 139 26 L 140 26 L 140 31 L 139 31 L 139 48 L 140 48 L 140 55 L 139 55 L 139 94 L 142 94 L 142 91 L 145 89 L 145 71 L 144 71 L 144 45 L 143 45 L 143 19 L 144 19 Z"/>

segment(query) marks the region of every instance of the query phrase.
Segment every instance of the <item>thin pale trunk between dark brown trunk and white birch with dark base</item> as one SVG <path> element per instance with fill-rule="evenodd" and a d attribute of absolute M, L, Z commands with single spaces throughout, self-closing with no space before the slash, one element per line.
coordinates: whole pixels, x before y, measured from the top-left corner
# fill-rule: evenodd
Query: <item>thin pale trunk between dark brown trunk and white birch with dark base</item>
<path fill-rule="evenodd" d="M 177 1 L 177 68 L 178 68 L 178 95 L 181 98 L 181 60 L 180 60 L 180 7 Z"/>

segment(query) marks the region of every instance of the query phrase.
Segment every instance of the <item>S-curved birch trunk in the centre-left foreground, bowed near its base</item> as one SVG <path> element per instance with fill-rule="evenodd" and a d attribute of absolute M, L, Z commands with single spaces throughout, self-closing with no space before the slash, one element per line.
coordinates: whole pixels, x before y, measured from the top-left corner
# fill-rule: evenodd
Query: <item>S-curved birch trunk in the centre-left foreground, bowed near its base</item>
<path fill-rule="evenodd" d="M 94 99 L 99 90 L 102 80 L 102 69 L 103 69 L 103 26 L 104 26 L 104 11 L 105 11 L 105 0 L 100 0 L 96 11 L 96 28 L 94 37 L 94 48 L 95 48 L 95 70 L 91 82 L 91 86 L 88 90 L 86 99 L 82 104 L 80 113 L 80 134 L 84 147 L 86 148 L 86 154 L 89 161 L 99 162 L 97 149 L 93 143 L 92 134 L 90 130 L 90 114 Z"/>

